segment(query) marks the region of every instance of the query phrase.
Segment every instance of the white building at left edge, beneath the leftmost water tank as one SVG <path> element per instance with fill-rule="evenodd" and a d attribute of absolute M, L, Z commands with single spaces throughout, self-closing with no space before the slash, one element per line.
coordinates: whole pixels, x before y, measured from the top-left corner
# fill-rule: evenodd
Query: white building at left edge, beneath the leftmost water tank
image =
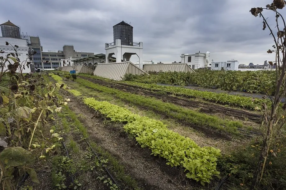
<path fill-rule="evenodd" d="M 17 48 L 17 53 L 18 53 L 18 57 L 20 59 L 20 64 L 23 62 L 23 64 L 26 64 L 25 63 L 25 60 L 27 59 L 27 55 L 28 52 L 29 52 L 29 46 L 28 46 L 28 43 L 25 39 L 19 39 L 19 38 L 4 38 L 4 37 L 0 37 L 0 50 L 4 51 L 4 53 L 0 53 L 0 56 L 3 56 L 3 57 L 6 57 L 6 55 L 8 53 L 14 53 L 15 54 L 15 50 L 13 49 L 13 47 L 11 45 L 6 45 L 6 42 L 12 44 L 12 46 L 19 46 L 19 48 Z M 11 62 L 12 60 L 10 60 Z M 27 59 L 27 61 L 30 61 L 29 59 Z M 6 62 L 5 64 L 5 68 L 4 68 L 4 71 L 7 69 L 7 65 L 9 63 Z M 13 62 L 11 63 L 13 64 Z M 20 72 L 19 71 L 19 68 L 18 68 L 18 71 L 17 72 Z M 23 73 L 30 73 L 31 72 L 31 68 L 29 66 L 29 68 L 27 66 L 25 66 L 25 70 L 23 69 L 22 70 Z"/>

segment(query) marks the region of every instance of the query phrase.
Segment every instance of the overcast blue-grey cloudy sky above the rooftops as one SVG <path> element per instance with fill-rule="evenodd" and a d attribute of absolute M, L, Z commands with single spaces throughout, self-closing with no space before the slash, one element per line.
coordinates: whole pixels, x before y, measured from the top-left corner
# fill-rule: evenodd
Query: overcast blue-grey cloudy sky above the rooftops
<path fill-rule="evenodd" d="M 2 0 L 3 1 L 3 0 Z M 26 0 L 7 1 L 0 23 L 8 19 L 21 32 L 39 36 L 44 51 L 62 50 L 105 53 L 113 42 L 113 25 L 131 22 L 133 42 L 143 42 L 143 59 L 171 63 L 183 53 L 210 51 L 210 60 L 235 59 L 263 64 L 273 60 L 266 51 L 273 45 L 261 18 L 252 7 L 271 0 Z M 286 10 L 286 8 L 285 8 Z M 285 15 L 286 11 L 281 13 Z M 269 20 L 273 20 L 271 14 Z M 271 22 L 273 23 L 273 22 Z M 136 55 L 131 60 L 139 60 Z"/>

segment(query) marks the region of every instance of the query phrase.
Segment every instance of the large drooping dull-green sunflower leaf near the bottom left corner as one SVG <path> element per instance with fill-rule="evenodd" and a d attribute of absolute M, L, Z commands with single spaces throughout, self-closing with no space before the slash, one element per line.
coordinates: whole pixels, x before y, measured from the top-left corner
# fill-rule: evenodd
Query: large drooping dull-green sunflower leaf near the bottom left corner
<path fill-rule="evenodd" d="M 26 164 L 33 164 L 35 157 L 21 147 L 8 147 L 0 153 L 0 160 L 8 166 L 17 167 Z"/>

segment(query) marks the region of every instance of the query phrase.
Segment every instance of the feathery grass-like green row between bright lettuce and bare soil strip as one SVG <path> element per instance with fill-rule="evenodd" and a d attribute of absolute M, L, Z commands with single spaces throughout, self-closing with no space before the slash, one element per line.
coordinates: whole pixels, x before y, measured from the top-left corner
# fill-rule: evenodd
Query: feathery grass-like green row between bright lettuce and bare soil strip
<path fill-rule="evenodd" d="M 76 82 L 78 82 L 81 85 L 88 86 L 97 91 L 101 91 L 101 92 L 104 92 L 110 95 L 115 95 L 119 99 L 127 101 L 131 104 L 148 107 L 152 110 L 158 111 L 160 113 L 164 113 L 165 115 L 169 117 L 173 117 L 178 120 L 193 123 L 195 125 L 210 126 L 214 129 L 227 131 L 233 134 L 237 133 L 238 127 L 239 128 L 243 127 L 243 124 L 241 122 L 223 120 L 216 116 L 210 116 L 208 114 L 199 113 L 194 110 L 182 108 L 175 104 L 162 102 L 161 100 L 158 100 L 155 98 L 130 94 L 127 92 L 122 92 L 120 90 L 108 88 L 105 86 L 100 86 L 93 82 L 90 82 L 90 81 L 87 81 L 81 78 L 76 79 Z"/>

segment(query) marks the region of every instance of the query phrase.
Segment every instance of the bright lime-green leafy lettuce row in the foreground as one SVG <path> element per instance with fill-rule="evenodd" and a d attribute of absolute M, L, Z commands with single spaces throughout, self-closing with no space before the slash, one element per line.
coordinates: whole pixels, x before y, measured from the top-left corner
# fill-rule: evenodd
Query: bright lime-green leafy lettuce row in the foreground
<path fill-rule="evenodd" d="M 191 139 L 168 130 L 162 122 L 141 117 L 107 101 L 85 98 L 84 102 L 114 122 L 127 122 L 123 128 L 136 137 L 142 148 L 148 147 L 154 156 L 164 157 L 168 165 L 183 166 L 187 178 L 204 185 L 210 182 L 213 175 L 219 174 L 216 170 L 219 149 L 201 148 Z"/>

